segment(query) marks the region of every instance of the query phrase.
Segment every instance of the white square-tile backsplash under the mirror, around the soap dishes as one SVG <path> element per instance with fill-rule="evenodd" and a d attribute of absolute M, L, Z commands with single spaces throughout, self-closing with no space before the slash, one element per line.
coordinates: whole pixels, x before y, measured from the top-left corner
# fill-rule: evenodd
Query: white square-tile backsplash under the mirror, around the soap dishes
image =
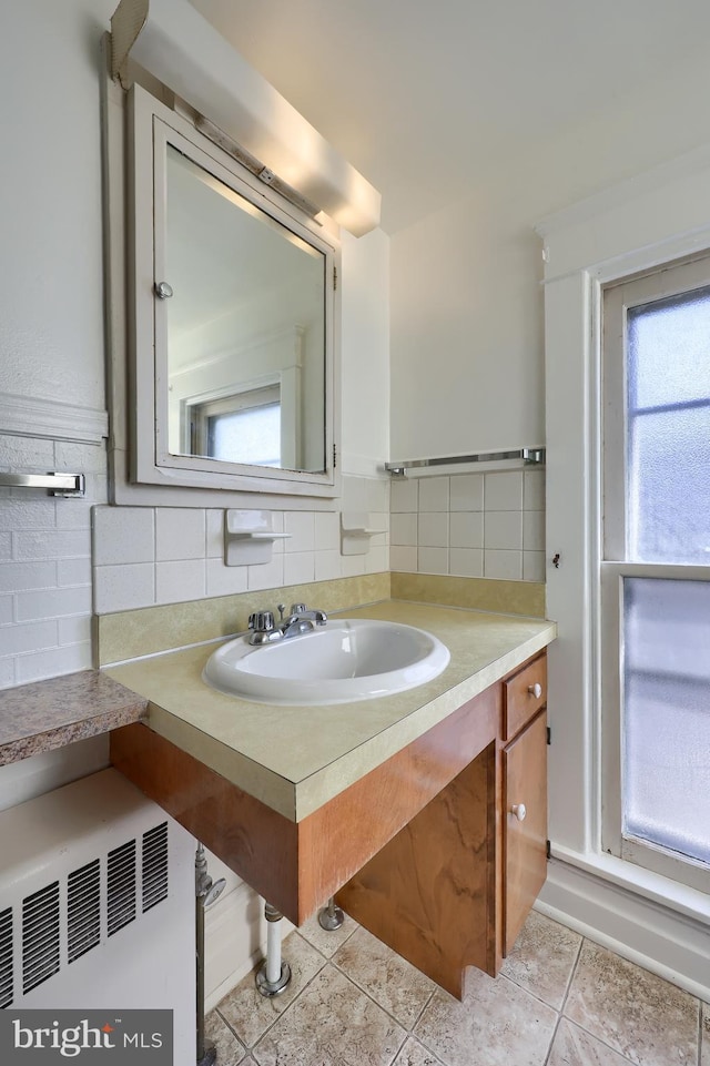
<path fill-rule="evenodd" d="M 389 524 L 389 484 L 345 477 L 342 509 L 365 510 L 375 528 Z M 341 512 L 273 511 L 273 528 L 290 534 L 258 566 L 224 565 L 224 510 L 180 507 L 98 507 L 93 515 L 94 610 L 98 615 L 305 585 L 389 569 L 387 534 L 367 555 L 341 555 Z"/>

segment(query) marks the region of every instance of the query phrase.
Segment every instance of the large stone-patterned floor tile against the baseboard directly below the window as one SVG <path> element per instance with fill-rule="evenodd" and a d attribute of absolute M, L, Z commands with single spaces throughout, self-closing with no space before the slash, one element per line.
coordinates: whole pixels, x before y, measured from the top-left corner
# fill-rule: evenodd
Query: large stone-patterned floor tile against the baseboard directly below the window
<path fill-rule="evenodd" d="M 564 1013 L 638 1066 L 696 1066 L 698 1011 L 689 993 L 585 941 Z"/>

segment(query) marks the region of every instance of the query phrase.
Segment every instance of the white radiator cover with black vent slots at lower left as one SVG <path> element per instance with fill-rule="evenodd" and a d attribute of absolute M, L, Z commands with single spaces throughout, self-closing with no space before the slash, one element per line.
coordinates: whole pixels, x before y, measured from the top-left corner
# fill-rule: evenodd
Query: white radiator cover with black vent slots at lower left
<path fill-rule="evenodd" d="M 195 842 L 115 770 L 0 813 L 0 1007 L 174 1012 L 195 1057 Z"/>

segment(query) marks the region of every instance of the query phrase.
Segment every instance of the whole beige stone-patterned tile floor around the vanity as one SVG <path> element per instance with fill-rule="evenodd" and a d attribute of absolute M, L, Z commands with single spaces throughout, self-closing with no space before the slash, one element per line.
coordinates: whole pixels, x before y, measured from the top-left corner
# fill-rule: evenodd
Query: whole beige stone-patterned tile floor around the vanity
<path fill-rule="evenodd" d="M 248 976 L 210 1014 L 217 1066 L 710 1066 L 710 1005 L 535 911 L 462 1003 L 347 917 L 284 957 L 281 996 Z"/>

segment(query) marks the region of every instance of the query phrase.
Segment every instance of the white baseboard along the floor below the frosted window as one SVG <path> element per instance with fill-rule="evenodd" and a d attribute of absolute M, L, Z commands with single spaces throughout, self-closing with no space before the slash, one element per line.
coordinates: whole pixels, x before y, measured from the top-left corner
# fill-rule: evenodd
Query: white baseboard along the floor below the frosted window
<path fill-rule="evenodd" d="M 710 925 L 552 859 L 536 910 L 710 1002 Z"/>

